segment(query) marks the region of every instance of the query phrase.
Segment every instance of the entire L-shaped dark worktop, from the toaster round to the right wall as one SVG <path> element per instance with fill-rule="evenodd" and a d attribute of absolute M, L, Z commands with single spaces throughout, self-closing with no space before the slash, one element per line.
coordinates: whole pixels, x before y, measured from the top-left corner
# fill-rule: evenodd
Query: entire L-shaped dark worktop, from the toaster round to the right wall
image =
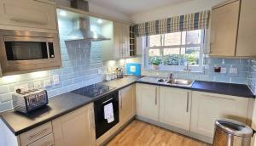
<path fill-rule="evenodd" d="M 155 77 L 143 76 L 125 76 L 122 79 L 113 81 L 102 81 L 104 85 L 115 87 L 114 90 L 108 92 L 116 92 L 121 88 L 127 87 L 135 82 L 154 84 L 166 87 L 177 87 L 166 85 L 157 81 Z M 220 93 L 226 95 L 239 96 L 244 98 L 255 98 L 253 93 L 246 85 L 210 82 L 210 81 L 195 81 L 192 87 L 177 87 L 195 91 L 208 93 Z M 9 110 L 1 113 L 3 122 L 9 126 L 9 129 L 15 134 L 20 135 L 27 132 L 36 126 L 40 126 L 48 121 L 52 121 L 61 115 L 65 115 L 73 110 L 78 109 L 86 104 L 94 102 L 96 99 L 102 98 L 106 94 L 102 94 L 96 98 L 88 98 L 76 93 L 64 93 L 53 98 L 49 98 L 49 104 L 46 108 L 36 110 L 31 115 L 21 115 L 14 110 Z"/>

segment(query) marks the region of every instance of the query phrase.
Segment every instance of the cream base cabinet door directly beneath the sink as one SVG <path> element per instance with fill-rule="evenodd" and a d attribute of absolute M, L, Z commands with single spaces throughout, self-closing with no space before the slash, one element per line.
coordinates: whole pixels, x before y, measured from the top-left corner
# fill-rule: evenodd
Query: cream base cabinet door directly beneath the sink
<path fill-rule="evenodd" d="M 160 122 L 189 131 L 190 91 L 160 87 Z"/>

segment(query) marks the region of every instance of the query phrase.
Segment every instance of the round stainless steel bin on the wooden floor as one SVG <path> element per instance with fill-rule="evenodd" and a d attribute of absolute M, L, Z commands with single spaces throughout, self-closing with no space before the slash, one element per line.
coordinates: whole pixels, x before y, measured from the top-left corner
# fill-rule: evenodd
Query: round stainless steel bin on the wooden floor
<path fill-rule="evenodd" d="M 239 121 L 221 119 L 215 122 L 213 146 L 249 146 L 253 129 Z"/>

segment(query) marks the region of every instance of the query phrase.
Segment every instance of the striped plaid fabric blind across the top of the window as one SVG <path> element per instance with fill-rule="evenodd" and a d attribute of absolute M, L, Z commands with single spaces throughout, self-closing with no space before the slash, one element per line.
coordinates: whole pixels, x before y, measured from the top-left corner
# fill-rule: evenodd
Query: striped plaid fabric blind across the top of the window
<path fill-rule="evenodd" d="M 184 14 L 167 18 L 164 20 L 154 20 L 135 25 L 137 36 L 150 36 L 178 31 L 193 31 L 207 29 L 210 11 L 201 11 L 195 14 Z"/>

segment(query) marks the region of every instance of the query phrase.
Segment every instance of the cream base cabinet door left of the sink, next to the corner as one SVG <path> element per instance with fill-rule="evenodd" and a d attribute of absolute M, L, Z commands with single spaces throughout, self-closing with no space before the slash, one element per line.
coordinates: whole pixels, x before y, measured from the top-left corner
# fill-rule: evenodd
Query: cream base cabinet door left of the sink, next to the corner
<path fill-rule="evenodd" d="M 159 87 L 137 84 L 137 115 L 159 121 Z"/>

